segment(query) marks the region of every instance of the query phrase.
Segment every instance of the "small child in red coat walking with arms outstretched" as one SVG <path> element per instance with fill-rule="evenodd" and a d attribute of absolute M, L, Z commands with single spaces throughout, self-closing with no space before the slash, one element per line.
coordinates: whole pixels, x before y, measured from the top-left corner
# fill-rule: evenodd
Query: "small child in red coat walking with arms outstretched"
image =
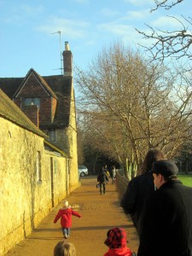
<path fill-rule="evenodd" d="M 68 238 L 70 235 L 70 228 L 72 226 L 72 215 L 81 218 L 79 212 L 73 211 L 73 209 L 68 205 L 68 201 L 63 201 L 63 207 L 56 214 L 54 223 L 61 218 L 61 229 L 64 238 Z"/>

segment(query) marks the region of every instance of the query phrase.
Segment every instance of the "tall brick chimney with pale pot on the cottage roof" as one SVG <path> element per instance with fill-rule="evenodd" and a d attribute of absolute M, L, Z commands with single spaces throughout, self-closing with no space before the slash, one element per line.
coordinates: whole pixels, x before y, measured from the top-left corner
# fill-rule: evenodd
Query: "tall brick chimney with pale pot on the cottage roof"
<path fill-rule="evenodd" d="M 63 55 L 64 76 L 72 76 L 73 55 L 69 48 L 68 42 L 65 42 L 65 50 L 63 51 L 62 55 Z"/>

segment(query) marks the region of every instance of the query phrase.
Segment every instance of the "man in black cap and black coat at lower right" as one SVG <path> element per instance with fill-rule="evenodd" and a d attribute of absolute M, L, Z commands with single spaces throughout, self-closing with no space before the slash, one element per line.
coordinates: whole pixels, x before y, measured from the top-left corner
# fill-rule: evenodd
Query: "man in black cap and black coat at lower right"
<path fill-rule="evenodd" d="M 137 256 L 192 255 L 192 188 L 177 179 L 171 160 L 152 167 L 157 188 L 148 198 Z"/>

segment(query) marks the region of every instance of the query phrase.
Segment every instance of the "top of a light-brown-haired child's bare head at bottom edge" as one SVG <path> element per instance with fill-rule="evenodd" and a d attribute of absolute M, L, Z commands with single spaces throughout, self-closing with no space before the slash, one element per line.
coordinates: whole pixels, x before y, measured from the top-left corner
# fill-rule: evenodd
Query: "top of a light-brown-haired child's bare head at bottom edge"
<path fill-rule="evenodd" d="M 55 245 L 54 256 L 76 256 L 76 250 L 73 243 L 68 241 L 59 241 Z"/>

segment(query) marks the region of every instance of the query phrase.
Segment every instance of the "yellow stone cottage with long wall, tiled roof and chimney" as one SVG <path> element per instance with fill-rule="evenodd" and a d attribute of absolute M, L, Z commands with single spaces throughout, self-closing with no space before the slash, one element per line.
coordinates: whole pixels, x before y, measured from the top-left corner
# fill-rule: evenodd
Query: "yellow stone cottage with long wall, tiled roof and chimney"
<path fill-rule="evenodd" d="M 0 79 L 0 255 L 79 186 L 72 53 L 64 75 Z"/>

